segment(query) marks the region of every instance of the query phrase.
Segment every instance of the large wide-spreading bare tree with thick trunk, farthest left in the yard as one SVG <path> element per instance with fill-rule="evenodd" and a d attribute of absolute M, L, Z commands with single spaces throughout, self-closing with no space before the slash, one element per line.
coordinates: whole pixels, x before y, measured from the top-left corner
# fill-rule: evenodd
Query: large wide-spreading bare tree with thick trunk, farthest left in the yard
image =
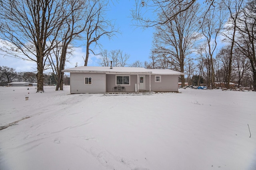
<path fill-rule="evenodd" d="M 2 42 L 6 43 L 2 51 L 37 63 L 37 92 L 44 92 L 46 56 L 56 45 L 64 14 L 62 0 L 2 0 L 0 3 L 0 33 Z"/>

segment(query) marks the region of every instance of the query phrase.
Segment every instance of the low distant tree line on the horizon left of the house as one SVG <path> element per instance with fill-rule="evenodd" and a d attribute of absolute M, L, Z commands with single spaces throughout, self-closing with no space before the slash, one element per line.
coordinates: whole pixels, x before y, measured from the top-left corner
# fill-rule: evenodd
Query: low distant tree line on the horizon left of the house
<path fill-rule="evenodd" d="M 58 76 L 54 73 L 44 74 L 44 85 L 56 86 Z M 35 72 L 16 72 L 14 68 L 0 66 L 0 86 L 7 86 L 10 82 L 37 83 Z M 64 75 L 63 84 L 70 85 L 70 77 Z"/>

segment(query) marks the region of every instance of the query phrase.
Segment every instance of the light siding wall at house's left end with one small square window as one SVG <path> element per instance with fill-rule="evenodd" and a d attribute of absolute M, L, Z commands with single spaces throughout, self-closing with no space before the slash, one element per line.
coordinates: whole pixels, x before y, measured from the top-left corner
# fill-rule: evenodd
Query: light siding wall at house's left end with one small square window
<path fill-rule="evenodd" d="M 92 77 L 92 84 L 84 84 L 85 77 Z M 105 93 L 106 74 L 70 73 L 70 93 Z"/>

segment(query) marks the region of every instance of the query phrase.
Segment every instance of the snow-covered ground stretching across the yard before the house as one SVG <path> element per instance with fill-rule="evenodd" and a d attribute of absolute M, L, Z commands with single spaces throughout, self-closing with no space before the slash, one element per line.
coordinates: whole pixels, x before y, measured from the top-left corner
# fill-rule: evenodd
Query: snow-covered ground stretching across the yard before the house
<path fill-rule="evenodd" d="M 256 92 L 27 88 L 0 87 L 0 170 L 256 170 Z"/>

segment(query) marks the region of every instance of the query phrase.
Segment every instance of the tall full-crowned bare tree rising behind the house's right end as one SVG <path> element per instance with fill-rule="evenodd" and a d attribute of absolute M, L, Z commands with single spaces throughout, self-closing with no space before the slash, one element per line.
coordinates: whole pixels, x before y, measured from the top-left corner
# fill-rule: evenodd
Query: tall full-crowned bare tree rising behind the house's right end
<path fill-rule="evenodd" d="M 183 1 L 184 3 L 187 1 Z M 189 3 L 189 2 L 187 2 Z M 170 12 L 169 16 L 166 13 L 159 15 L 160 20 L 165 21 L 170 16 L 178 13 L 183 8 L 182 5 Z M 197 13 L 199 10 L 198 4 L 193 4 L 188 10 L 177 14 L 171 21 L 165 22 L 163 25 L 156 26 L 154 33 L 155 49 L 161 54 L 161 60 L 165 60 L 174 67 L 175 70 L 184 72 L 186 59 L 194 49 L 196 40 L 199 35 L 196 34 Z M 182 86 L 184 86 L 184 75 L 181 75 Z"/>

